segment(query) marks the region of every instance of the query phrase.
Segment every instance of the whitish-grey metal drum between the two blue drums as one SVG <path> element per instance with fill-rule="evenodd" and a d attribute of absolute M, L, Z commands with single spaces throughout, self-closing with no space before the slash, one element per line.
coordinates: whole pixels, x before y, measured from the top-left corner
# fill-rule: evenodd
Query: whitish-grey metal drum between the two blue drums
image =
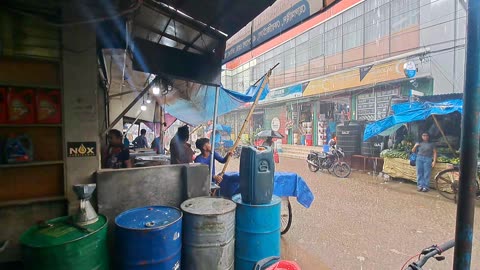
<path fill-rule="evenodd" d="M 198 197 L 182 203 L 182 269 L 233 270 L 235 208 L 230 200 Z"/>

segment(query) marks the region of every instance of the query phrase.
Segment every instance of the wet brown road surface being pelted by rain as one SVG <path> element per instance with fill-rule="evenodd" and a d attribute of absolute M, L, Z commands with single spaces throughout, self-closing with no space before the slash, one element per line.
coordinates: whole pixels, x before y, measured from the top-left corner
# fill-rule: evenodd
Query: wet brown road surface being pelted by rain
<path fill-rule="evenodd" d="M 238 166 L 236 159 L 228 171 Z M 436 191 L 418 193 L 415 185 L 364 173 L 348 179 L 312 173 L 297 159 L 282 158 L 276 170 L 301 175 L 315 195 L 309 209 L 291 198 L 293 223 L 282 237 L 282 258 L 297 261 L 302 270 L 401 269 L 424 247 L 454 238 L 456 205 Z M 480 269 L 476 210 L 471 269 Z M 453 249 L 445 256 L 424 269 L 452 269 Z"/>

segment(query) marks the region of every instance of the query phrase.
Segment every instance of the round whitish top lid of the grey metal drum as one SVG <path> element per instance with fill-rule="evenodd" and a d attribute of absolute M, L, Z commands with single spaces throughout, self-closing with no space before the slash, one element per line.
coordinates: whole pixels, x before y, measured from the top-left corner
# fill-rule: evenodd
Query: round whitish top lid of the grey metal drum
<path fill-rule="evenodd" d="M 180 208 L 193 215 L 222 215 L 235 210 L 237 205 L 227 199 L 215 197 L 198 197 L 186 200 Z"/>

